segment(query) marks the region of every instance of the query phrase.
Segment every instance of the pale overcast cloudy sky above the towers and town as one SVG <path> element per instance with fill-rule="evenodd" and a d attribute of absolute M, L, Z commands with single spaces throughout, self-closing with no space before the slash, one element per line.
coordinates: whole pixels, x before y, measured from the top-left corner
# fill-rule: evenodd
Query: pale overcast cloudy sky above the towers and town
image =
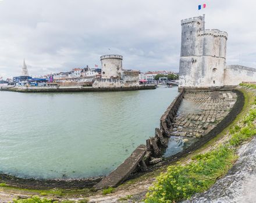
<path fill-rule="evenodd" d="M 198 4 L 207 3 L 200 12 Z M 100 65 L 178 71 L 180 20 L 206 14 L 206 28 L 227 31 L 227 64 L 256 67 L 253 0 L 0 0 L 0 77 Z M 111 50 L 109 50 L 111 49 Z"/>

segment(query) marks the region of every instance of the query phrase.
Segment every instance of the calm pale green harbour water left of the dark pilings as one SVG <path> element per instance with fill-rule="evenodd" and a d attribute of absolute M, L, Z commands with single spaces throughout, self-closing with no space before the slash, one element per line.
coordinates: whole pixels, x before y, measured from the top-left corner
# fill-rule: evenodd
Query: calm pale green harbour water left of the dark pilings
<path fill-rule="evenodd" d="M 0 172 L 107 175 L 145 140 L 177 88 L 98 93 L 0 92 Z"/>

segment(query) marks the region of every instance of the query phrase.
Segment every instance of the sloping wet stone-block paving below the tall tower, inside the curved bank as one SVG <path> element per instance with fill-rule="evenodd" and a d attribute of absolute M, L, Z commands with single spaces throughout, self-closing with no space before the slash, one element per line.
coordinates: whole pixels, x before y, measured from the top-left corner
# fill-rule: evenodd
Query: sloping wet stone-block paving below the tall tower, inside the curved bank
<path fill-rule="evenodd" d="M 184 138 L 207 135 L 226 117 L 236 98 L 237 95 L 231 91 L 186 93 L 171 135 Z"/>

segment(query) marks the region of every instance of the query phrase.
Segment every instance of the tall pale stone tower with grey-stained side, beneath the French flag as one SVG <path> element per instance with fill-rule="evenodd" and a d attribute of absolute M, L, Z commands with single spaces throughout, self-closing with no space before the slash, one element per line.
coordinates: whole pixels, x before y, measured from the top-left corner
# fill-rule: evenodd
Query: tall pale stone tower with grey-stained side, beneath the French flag
<path fill-rule="evenodd" d="M 205 30 L 205 16 L 182 20 L 179 87 L 223 86 L 227 33 Z"/>

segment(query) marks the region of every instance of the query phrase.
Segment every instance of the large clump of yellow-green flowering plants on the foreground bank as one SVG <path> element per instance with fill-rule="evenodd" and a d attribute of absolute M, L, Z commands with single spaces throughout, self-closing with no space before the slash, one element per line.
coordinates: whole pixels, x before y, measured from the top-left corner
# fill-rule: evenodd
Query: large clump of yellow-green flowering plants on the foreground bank
<path fill-rule="evenodd" d="M 169 166 L 167 173 L 162 173 L 150 188 L 145 202 L 172 203 L 207 190 L 218 177 L 225 175 L 236 155 L 232 149 L 221 146 L 193 159 L 194 162 L 184 166 Z"/>

